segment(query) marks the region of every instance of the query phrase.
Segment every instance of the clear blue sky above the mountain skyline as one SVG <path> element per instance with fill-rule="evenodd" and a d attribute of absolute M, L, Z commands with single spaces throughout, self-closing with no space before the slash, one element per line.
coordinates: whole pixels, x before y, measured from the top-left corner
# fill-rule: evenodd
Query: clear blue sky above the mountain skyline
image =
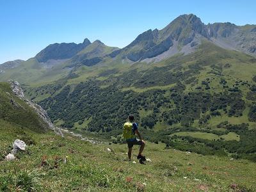
<path fill-rule="evenodd" d="M 124 47 L 184 13 L 208 22 L 256 24 L 256 1 L 0 0 L 0 63 L 27 60 L 55 42 L 101 40 Z"/>

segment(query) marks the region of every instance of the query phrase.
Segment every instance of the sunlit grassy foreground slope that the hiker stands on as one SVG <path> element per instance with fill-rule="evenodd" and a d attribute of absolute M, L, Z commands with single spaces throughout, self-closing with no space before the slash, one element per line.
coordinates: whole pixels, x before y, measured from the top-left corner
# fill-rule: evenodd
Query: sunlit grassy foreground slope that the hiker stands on
<path fill-rule="evenodd" d="M 0 121 L 1 123 L 1 121 Z M 127 159 L 127 146 L 93 145 L 68 135 L 39 134 L 12 124 L 0 126 L 1 155 L 13 140 L 31 141 L 15 161 L 0 161 L 0 191 L 255 191 L 255 163 L 230 157 L 180 152 L 147 143 L 152 163 L 136 161 L 138 148 Z M 28 141 L 28 140 L 26 140 Z M 28 143 L 28 142 L 27 142 Z M 107 152 L 110 147 L 114 153 Z M 67 157 L 67 163 L 63 159 Z M 233 188 L 233 189 L 232 189 Z"/>

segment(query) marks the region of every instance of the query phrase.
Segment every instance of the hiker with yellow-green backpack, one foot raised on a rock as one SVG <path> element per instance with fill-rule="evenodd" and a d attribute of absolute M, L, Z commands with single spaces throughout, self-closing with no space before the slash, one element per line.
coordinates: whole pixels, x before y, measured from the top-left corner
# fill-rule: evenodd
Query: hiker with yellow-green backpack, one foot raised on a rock
<path fill-rule="evenodd" d="M 134 122 L 134 116 L 129 115 L 128 119 L 129 120 L 124 124 L 124 132 L 123 132 L 124 139 L 127 141 L 127 145 L 128 145 L 128 158 L 129 158 L 129 161 L 131 161 L 133 145 L 140 145 L 140 152 L 137 156 L 137 159 L 140 159 L 140 163 L 141 163 L 141 161 L 146 161 L 145 156 L 141 154 L 145 147 L 145 141 L 143 141 L 141 138 L 140 132 L 138 131 L 138 124 Z M 136 138 L 135 133 L 138 135 L 140 140 Z"/>

